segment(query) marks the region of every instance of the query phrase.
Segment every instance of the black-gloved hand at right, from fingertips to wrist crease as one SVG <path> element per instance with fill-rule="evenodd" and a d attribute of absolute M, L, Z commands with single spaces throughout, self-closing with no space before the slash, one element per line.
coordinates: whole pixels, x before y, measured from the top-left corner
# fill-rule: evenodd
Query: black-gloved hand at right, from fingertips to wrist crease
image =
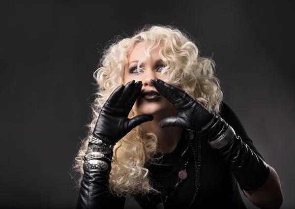
<path fill-rule="evenodd" d="M 162 119 L 159 125 L 180 126 L 190 130 L 199 131 L 214 119 L 214 114 L 207 110 L 198 100 L 191 97 L 184 90 L 165 83 L 160 79 L 150 80 L 152 85 L 170 101 L 179 111 L 177 117 Z"/>

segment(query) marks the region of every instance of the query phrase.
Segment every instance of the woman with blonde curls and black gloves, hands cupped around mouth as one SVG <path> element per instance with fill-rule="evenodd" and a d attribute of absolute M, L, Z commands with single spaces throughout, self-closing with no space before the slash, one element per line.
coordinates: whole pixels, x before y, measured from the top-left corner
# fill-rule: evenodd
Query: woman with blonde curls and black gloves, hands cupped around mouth
<path fill-rule="evenodd" d="M 280 208 L 279 178 L 222 102 L 214 62 L 172 27 L 113 44 L 94 73 L 77 208 Z M 238 183 L 238 185 L 237 185 Z"/>

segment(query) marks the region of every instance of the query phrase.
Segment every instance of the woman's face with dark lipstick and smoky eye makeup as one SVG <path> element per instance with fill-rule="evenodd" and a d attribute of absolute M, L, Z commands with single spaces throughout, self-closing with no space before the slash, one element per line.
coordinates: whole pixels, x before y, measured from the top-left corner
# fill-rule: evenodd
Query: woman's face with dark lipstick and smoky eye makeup
<path fill-rule="evenodd" d="M 153 98 L 154 95 L 145 95 L 144 93 L 147 90 L 157 91 L 151 84 L 151 79 L 165 79 L 162 78 L 161 75 L 161 71 L 164 68 L 165 64 L 159 56 L 160 47 L 157 47 L 149 52 L 150 57 L 143 62 L 141 66 L 143 67 L 143 69 L 139 70 L 141 73 L 138 72 L 138 60 L 147 58 L 145 49 L 148 48 L 149 45 L 150 43 L 148 42 L 140 42 L 135 45 L 134 49 L 128 55 L 128 65 L 124 72 L 124 85 L 126 85 L 129 81 L 132 80 L 142 81 L 143 83 L 141 93 L 133 106 L 133 109 L 138 114 L 147 114 L 155 116 L 158 114 L 171 115 L 171 113 L 174 113 L 175 115 L 175 113 L 178 112 L 177 109 L 162 95 L 158 95 L 156 96 L 156 98 L 150 99 Z"/>

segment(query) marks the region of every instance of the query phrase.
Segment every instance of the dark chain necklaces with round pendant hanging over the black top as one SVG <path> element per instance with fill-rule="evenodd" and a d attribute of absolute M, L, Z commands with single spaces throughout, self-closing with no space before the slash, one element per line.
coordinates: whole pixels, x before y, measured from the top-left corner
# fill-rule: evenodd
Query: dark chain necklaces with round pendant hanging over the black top
<path fill-rule="evenodd" d="M 199 191 L 200 191 L 200 188 L 201 188 L 201 184 L 200 184 L 200 171 L 201 171 L 201 142 L 200 142 L 199 135 L 198 135 L 198 139 L 195 140 L 195 141 L 196 141 L 196 146 L 194 147 L 194 146 L 192 145 L 192 139 L 196 138 L 196 135 L 197 135 L 197 134 L 193 134 L 192 132 L 191 132 L 189 135 L 186 134 L 186 138 L 188 139 L 188 144 L 190 145 L 190 147 L 191 147 L 191 149 L 192 149 L 192 151 L 193 151 L 193 155 L 191 155 L 191 156 L 188 158 L 187 162 L 186 162 L 185 165 L 184 165 L 184 168 L 183 168 L 183 164 L 182 164 L 182 166 L 181 166 L 181 171 L 180 171 L 180 172 L 186 174 L 186 177 L 180 179 L 180 176 L 181 176 L 181 175 L 180 175 L 180 172 L 179 172 L 179 174 L 178 174 L 178 179 L 177 179 L 177 183 L 176 183 L 176 185 L 174 186 L 174 191 L 171 193 L 171 195 L 168 195 L 168 194 L 160 195 L 160 197 L 161 197 L 161 203 L 158 203 L 158 204 L 157 204 L 157 206 L 156 206 L 157 209 L 165 209 L 165 206 L 166 206 L 166 203 L 167 203 L 167 199 L 168 199 L 168 197 L 171 198 L 171 197 L 175 194 L 175 192 L 177 191 L 177 189 L 178 189 L 178 187 L 179 187 L 179 184 L 180 184 L 184 179 L 187 178 L 187 173 L 186 173 L 187 164 L 188 164 L 188 162 L 190 161 L 190 159 L 191 159 L 193 156 L 194 156 L 194 161 L 195 161 L 195 165 L 196 165 L 196 184 L 195 184 L 195 185 L 196 185 L 196 193 L 195 193 L 195 195 L 194 195 L 194 198 L 193 198 L 192 202 L 191 202 L 190 205 L 187 207 L 187 209 L 190 208 L 191 205 L 193 204 L 193 202 L 195 201 L 195 199 L 196 199 L 196 197 L 197 197 L 197 195 L 198 195 L 198 193 L 199 193 Z M 195 148 L 196 148 L 197 150 L 196 150 Z M 187 149 L 188 149 L 188 147 L 187 147 Z M 186 150 L 187 150 L 187 149 L 186 149 Z M 182 157 L 183 154 L 186 152 L 186 150 L 182 153 L 181 157 Z M 178 164 L 179 164 L 179 162 L 178 162 Z M 178 167 L 178 165 L 177 165 L 177 167 Z M 176 169 L 174 169 L 174 171 L 175 171 L 175 170 L 176 170 Z M 174 171 L 173 171 L 173 172 L 174 172 Z M 173 172 L 172 172 L 172 173 L 173 173 Z M 156 180 L 156 179 L 155 179 L 155 180 Z M 162 188 L 161 188 L 160 183 L 157 182 L 157 181 L 156 181 L 156 186 L 162 191 L 162 193 L 164 193 L 164 191 L 163 191 Z"/>

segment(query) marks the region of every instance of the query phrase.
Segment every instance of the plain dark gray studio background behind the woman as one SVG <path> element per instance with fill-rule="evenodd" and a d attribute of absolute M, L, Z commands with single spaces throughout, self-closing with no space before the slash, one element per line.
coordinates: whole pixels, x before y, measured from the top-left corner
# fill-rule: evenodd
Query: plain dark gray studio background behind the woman
<path fill-rule="evenodd" d="M 213 55 L 225 101 L 280 177 L 282 208 L 295 208 L 293 10 L 291 0 L 1 2 L 0 207 L 75 208 L 69 173 L 98 52 L 157 23 L 185 29 Z"/>

